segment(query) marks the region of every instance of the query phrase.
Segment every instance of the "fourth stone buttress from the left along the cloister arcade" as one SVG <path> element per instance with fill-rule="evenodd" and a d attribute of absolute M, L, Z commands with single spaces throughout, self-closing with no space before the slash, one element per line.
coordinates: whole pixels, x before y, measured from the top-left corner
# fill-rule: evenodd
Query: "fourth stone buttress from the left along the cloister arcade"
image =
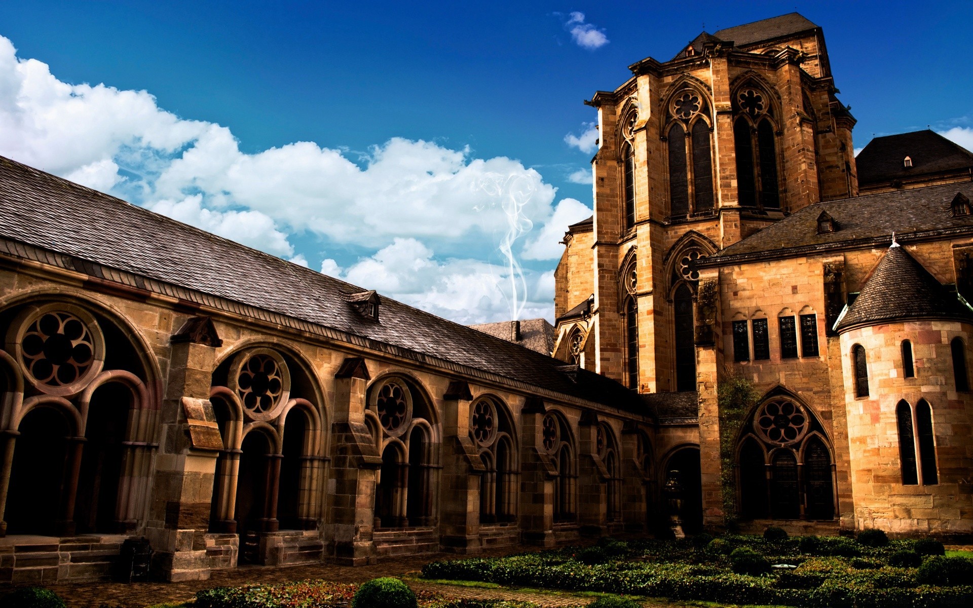
<path fill-rule="evenodd" d="M 554 547 L 554 479 L 558 470 L 544 449 L 544 402 L 531 397 L 521 411 L 521 536 L 525 544 Z"/>

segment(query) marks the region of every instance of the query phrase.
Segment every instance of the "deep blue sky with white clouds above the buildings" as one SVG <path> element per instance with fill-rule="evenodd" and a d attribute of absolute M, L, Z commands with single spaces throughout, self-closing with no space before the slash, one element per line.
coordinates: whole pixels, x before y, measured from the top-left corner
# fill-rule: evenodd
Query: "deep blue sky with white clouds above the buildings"
<path fill-rule="evenodd" d="M 550 318 L 596 89 L 797 10 L 856 147 L 926 125 L 973 147 L 973 8 L 932 6 L 7 0 L 0 154 L 460 322 L 509 318 L 512 285 Z"/>

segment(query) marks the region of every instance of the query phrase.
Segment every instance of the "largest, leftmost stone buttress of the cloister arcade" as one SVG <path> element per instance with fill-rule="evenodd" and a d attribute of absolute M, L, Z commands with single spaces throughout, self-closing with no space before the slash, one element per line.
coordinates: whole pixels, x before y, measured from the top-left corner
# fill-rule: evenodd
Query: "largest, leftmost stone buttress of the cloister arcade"
<path fill-rule="evenodd" d="M 162 400 L 162 441 L 146 535 L 153 571 L 165 581 L 209 578 L 209 529 L 216 458 L 223 439 L 209 402 L 216 336 L 207 317 L 192 317 L 172 337 Z"/>

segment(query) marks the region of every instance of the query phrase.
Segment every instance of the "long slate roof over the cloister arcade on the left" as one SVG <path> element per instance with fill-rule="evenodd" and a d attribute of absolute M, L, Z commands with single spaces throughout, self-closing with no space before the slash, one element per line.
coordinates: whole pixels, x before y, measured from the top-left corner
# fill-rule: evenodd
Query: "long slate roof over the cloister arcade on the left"
<path fill-rule="evenodd" d="M 343 299 L 367 291 L 361 287 L 3 157 L 0 253 L 86 272 L 143 298 L 155 292 L 222 307 L 456 373 L 482 371 L 644 412 L 637 396 L 614 380 L 566 376 L 557 359 L 390 298 L 381 298 L 380 322 L 363 318 Z"/>

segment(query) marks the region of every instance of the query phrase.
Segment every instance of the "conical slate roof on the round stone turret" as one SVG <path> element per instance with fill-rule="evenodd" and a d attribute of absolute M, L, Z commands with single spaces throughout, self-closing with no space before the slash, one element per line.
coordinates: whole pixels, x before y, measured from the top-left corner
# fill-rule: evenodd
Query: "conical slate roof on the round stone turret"
<path fill-rule="evenodd" d="M 896 243 L 872 270 L 836 329 L 844 332 L 889 321 L 930 318 L 970 321 L 973 310 Z"/>

